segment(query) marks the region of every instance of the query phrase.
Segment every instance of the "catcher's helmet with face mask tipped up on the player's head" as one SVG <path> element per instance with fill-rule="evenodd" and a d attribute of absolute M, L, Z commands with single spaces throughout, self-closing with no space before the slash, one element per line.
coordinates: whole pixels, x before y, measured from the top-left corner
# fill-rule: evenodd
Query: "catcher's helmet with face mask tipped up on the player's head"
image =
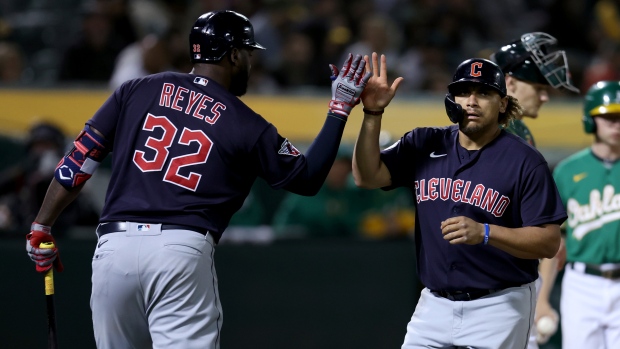
<path fill-rule="evenodd" d="M 570 77 L 566 53 L 552 47 L 556 43 L 557 40 L 547 33 L 523 34 L 521 39 L 493 53 L 491 60 L 502 68 L 504 74 L 519 80 L 579 93 Z"/>

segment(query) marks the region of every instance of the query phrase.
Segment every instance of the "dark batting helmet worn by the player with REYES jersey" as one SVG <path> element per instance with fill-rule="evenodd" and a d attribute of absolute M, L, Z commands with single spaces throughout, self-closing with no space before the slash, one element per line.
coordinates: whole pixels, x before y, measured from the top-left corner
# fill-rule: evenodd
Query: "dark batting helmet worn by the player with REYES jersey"
<path fill-rule="evenodd" d="M 233 47 L 265 49 L 254 40 L 252 23 L 242 14 L 213 11 L 198 17 L 189 34 L 192 63 L 219 62 Z"/>

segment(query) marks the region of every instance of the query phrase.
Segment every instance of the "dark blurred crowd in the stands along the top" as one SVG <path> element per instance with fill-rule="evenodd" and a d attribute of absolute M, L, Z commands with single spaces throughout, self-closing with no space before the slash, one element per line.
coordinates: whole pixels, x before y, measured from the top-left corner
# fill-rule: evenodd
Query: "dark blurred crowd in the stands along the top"
<path fill-rule="evenodd" d="M 389 57 L 405 92 L 443 92 L 464 58 L 488 57 L 528 31 L 555 36 L 582 90 L 617 79 L 617 0 L 3 0 L 0 80 L 114 88 L 148 73 L 188 72 L 187 35 L 202 13 L 252 21 L 252 93 L 329 86 L 348 52 Z"/>

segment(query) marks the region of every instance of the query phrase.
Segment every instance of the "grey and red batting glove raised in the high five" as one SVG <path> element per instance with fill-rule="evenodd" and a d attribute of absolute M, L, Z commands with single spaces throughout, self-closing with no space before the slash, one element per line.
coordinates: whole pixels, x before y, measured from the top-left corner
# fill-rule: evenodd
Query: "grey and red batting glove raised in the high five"
<path fill-rule="evenodd" d="M 372 73 L 364 74 L 366 64 L 362 56 L 356 55 L 353 59 L 350 53 L 340 73 L 333 64 L 330 64 L 329 68 L 332 71 L 332 99 L 329 101 L 329 111 L 346 119 L 353 107 L 359 104 L 362 91 Z"/>

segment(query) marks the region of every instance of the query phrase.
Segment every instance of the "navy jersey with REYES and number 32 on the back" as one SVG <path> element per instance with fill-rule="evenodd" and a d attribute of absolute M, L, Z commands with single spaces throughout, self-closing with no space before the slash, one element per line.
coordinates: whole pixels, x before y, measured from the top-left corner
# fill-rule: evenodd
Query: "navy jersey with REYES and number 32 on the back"
<path fill-rule="evenodd" d="M 272 124 L 191 74 L 128 81 L 87 124 L 112 150 L 101 222 L 184 224 L 218 240 L 257 176 L 282 188 L 306 167 Z"/>

